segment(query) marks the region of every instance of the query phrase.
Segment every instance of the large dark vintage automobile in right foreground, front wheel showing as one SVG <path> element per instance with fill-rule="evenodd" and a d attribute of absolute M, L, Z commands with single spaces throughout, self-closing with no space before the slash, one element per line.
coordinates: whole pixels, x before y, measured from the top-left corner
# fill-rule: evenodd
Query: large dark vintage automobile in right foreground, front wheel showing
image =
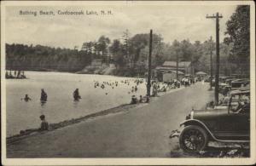
<path fill-rule="evenodd" d="M 230 93 L 229 105 L 224 109 L 191 111 L 180 124 L 184 126 L 179 135 L 180 147 L 185 152 L 199 152 L 207 147 L 209 140 L 249 142 L 249 100 L 249 90 L 236 90 Z"/>

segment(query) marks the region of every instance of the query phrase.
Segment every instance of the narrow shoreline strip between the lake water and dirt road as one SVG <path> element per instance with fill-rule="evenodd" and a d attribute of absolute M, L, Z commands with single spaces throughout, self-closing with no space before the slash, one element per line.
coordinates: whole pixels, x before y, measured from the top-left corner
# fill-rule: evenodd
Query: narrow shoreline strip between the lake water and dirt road
<path fill-rule="evenodd" d="M 184 89 L 184 87 L 182 86 L 178 89 L 169 89 L 166 92 L 159 92 L 159 94 L 157 96 L 150 98 L 149 103 L 153 102 L 154 100 L 158 100 L 159 97 L 161 97 L 162 95 L 170 94 L 172 92 L 176 92 L 177 90 L 181 90 L 181 89 Z M 85 115 L 82 117 L 67 119 L 67 120 L 61 121 L 59 123 L 49 123 L 49 130 L 47 130 L 47 131 L 39 131 L 38 129 L 20 130 L 20 131 L 22 131 L 22 133 L 6 137 L 6 143 L 7 143 L 7 145 L 9 145 L 9 144 L 15 143 L 16 141 L 26 139 L 27 137 L 30 137 L 33 135 L 43 135 L 44 133 L 54 131 L 55 129 L 61 129 L 61 128 L 67 127 L 69 125 L 81 123 L 84 121 L 89 121 L 89 120 L 95 119 L 96 117 L 104 117 L 104 116 L 108 116 L 108 115 L 116 114 L 116 113 L 120 113 L 120 112 L 127 112 L 131 108 L 135 108 L 135 107 L 139 107 L 139 106 L 147 106 L 147 105 L 148 105 L 148 103 L 123 104 L 123 105 L 115 106 L 113 108 L 108 108 L 107 110 L 102 110 L 100 112 L 91 113 L 89 115 Z"/>

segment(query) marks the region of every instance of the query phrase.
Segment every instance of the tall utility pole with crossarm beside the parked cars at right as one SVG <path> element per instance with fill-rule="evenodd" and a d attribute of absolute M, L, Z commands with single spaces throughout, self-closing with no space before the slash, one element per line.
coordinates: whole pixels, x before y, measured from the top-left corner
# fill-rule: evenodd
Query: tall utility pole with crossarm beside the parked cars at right
<path fill-rule="evenodd" d="M 212 16 L 207 15 L 207 19 L 216 19 L 216 69 L 215 69 L 215 89 L 214 89 L 214 96 L 215 96 L 215 105 L 218 106 L 218 73 L 219 73 L 219 25 L 218 19 L 222 18 L 222 15 L 216 16 L 213 14 Z"/>

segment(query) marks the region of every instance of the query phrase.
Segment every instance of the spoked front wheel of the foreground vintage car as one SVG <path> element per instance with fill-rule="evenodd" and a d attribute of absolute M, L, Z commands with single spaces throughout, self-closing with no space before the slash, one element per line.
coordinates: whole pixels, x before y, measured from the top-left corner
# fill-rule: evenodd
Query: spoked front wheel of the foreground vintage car
<path fill-rule="evenodd" d="M 199 126 L 189 125 L 179 136 L 179 146 L 184 152 L 200 152 L 207 146 L 207 143 L 207 132 Z"/>

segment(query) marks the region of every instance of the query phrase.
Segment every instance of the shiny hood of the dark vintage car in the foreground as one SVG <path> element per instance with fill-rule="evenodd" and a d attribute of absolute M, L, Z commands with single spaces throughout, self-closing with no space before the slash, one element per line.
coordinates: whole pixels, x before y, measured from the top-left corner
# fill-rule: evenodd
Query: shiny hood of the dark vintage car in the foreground
<path fill-rule="evenodd" d="M 203 119 L 212 119 L 221 117 L 228 114 L 228 109 L 212 109 L 212 110 L 200 110 L 200 111 L 192 111 L 191 118 L 203 120 Z"/>

